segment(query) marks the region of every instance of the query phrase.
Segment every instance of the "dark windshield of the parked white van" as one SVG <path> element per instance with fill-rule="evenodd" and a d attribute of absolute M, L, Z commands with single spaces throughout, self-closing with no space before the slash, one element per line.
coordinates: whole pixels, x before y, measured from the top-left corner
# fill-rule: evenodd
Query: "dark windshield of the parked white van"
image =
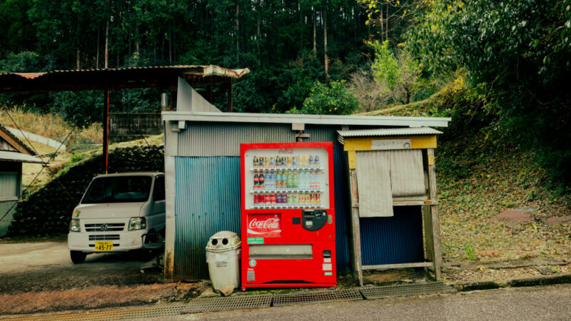
<path fill-rule="evenodd" d="M 134 203 L 148 200 L 150 176 L 115 176 L 96 178 L 81 203 Z"/>

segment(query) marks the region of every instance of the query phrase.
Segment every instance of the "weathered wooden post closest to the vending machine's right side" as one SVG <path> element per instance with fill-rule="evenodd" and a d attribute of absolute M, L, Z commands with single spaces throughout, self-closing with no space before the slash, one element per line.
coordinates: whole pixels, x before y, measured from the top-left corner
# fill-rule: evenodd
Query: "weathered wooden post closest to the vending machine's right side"
<path fill-rule="evenodd" d="M 361 233 L 359 222 L 359 191 L 357 188 L 357 171 L 349 170 L 350 193 L 351 193 L 351 228 L 353 229 L 353 272 L 359 280 L 359 286 L 363 286 L 363 260 L 361 258 Z"/>

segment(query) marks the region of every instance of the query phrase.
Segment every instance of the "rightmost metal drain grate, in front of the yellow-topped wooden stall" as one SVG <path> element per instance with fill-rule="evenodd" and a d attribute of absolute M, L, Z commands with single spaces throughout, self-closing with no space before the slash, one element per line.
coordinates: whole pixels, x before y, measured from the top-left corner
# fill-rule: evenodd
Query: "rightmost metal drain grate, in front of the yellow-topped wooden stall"
<path fill-rule="evenodd" d="M 443 282 L 428 282 L 425 284 L 387 285 L 384 287 L 361 287 L 360 292 L 365 299 L 380 299 L 381 297 L 405 297 L 409 295 L 430 295 L 434 293 L 456 292 L 454 287 Z"/>

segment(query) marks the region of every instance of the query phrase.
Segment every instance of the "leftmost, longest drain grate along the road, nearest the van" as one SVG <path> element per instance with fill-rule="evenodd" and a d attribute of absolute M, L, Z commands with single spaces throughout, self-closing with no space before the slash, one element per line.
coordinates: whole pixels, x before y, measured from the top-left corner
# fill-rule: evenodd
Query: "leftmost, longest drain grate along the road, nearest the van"
<path fill-rule="evenodd" d="M 185 303 L 171 305 L 155 305 L 152 307 L 129 307 L 118 310 L 99 310 L 79 313 L 64 313 L 52 315 L 31 315 L 16 317 L 11 320 L 132 320 L 151 319 L 153 317 L 168 317 L 180 315 Z"/>

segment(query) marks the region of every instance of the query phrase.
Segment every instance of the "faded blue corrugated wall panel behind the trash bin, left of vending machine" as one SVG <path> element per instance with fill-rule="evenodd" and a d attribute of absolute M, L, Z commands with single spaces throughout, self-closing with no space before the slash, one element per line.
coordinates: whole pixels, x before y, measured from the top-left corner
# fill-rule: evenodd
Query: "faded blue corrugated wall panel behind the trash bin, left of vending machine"
<path fill-rule="evenodd" d="M 175 183 L 175 277 L 208 278 L 208 238 L 240 234 L 240 158 L 176 157 Z"/>

